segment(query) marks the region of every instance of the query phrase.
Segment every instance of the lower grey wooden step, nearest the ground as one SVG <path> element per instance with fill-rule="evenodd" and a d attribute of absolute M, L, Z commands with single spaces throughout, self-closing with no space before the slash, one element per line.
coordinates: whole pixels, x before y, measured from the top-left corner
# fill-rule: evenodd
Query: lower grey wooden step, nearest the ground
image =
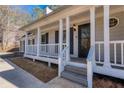
<path fill-rule="evenodd" d="M 71 80 L 73 82 L 76 82 L 78 84 L 81 84 L 87 87 L 87 77 L 84 75 L 80 75 L 80 74 L 73 73 L 70 71 L 63 71 L 61 73 L 61 76 L 65 79 Z"/>

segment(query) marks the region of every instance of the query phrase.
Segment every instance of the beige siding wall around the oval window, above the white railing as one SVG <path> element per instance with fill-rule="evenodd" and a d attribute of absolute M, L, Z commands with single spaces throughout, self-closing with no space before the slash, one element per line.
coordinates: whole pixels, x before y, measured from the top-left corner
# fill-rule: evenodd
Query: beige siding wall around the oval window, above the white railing
<path fill-rule="evenodd" d="M 110 14 L 110 17 L 119 19 L 119 24 L 110 28 L 110 41 L 124 40 L 124 11 L 119 13 Z M 103 41 L 103 16 L 96 19 L 96 41 Z"/>

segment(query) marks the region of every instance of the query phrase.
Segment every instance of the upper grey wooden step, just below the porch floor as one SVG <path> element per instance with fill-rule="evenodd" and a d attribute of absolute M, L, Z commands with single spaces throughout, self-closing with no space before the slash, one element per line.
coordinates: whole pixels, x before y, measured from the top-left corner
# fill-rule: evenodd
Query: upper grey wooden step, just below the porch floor
<path fill-rule="evenodd" d="M 76 67 L 76 66 L 70 66 L 67 65 L 65 66 L 65 71 L 73 72 L 79 75 L 87 75 L 87 69 L 86 68 L 81 68 L 81 67 Z"/>

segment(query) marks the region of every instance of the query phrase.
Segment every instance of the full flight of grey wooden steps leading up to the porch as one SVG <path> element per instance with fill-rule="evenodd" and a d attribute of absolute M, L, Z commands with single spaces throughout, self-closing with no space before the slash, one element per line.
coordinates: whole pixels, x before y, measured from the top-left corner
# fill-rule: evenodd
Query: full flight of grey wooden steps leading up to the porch
<path fill-rule="evenodd" d="M 65 79 L 71 80 L 87 87 L 86 68 L 66 65 L 64 71 L 61 73 L 61 76 Z"/>

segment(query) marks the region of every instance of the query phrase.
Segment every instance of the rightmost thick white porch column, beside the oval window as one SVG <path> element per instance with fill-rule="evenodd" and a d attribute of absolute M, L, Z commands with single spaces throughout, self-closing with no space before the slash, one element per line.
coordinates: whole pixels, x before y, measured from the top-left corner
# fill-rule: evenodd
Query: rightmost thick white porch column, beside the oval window
<path fill-rule="evenodd" d="M 110 67 L 109 6 L 104 6 L 104 66 Z"/>

